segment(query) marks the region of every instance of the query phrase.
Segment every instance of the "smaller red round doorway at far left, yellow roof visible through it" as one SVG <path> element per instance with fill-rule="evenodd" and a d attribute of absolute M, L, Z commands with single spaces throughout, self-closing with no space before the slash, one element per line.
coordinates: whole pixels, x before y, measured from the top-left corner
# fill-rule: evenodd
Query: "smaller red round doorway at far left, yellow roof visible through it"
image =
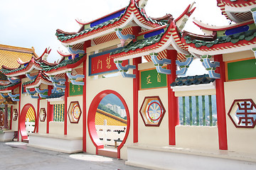
<path fill-rule="evenodd" d="M 21 132 L 21 141 L 28 140 L 28 133 L 26 130 L 26 122 L 33 120 L 36 123 L 36 110 L 31 103 L 26 104 L 22 110 L 19 118 L 19 128 Z M 34 130 L 36 125 L 34 126 Z M 32 130 L 34 132 L 34 130 Z"/>

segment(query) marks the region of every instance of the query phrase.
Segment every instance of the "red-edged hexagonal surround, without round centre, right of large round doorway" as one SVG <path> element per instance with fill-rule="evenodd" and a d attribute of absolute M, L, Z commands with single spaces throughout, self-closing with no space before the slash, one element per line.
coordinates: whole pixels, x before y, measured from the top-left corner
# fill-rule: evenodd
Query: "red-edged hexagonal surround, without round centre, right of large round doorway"
<path fill-rule="evenodd" d="M 148 104 L 153 101 L 153 100 L 157 100 L 159 101 L 159 103 L 157 103 L 157 105 L 159 105 L 159 109 L 161 111 L 161 114 L 159 115 L 158 118 L 151 118 L 149 116 L 149 106 Z M 153 102 L 156 104 L 156 102 Z M 150 103 L 151 105 L 152 103 Z M 148 107 L 146 107 L 148 106 Z M 147 108 L 147 109 L 146 109 Z M 161 120 L 163 120 L 164 118 L 164 114 L 166 113 L 166 110 L 164 108 L 164 105 L 163 103 L 161 102 L 161 99 L 159 98 L 159 96 L 147 96 L 144 98 L 144 101 L 142 102 L 142 106 L 141 108 L 139 109 L 139 113 L 140 115 L 142 116 L 142 120 L 144 122 L 144 125 L 145 126 L 156 126 L 156 127 L 159 127 L 159 125 L 161 124 Z M 150 120 L 159 120 L 157 123 L 152 123 Z"/>

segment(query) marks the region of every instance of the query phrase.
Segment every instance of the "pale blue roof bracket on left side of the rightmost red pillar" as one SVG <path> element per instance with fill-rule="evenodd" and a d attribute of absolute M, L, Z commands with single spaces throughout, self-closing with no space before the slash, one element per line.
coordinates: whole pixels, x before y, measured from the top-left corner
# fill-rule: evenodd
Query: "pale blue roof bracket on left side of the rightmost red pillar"
<path fill-rule="evenodd" d="M 209 77 L 213 79 L 220 79 L 220 74 L 215 73 L 216 67 L 220 67 L 220 62 L 210 62 L 210 55 L 202 55 L 203 67 L 208 71 Z"/>

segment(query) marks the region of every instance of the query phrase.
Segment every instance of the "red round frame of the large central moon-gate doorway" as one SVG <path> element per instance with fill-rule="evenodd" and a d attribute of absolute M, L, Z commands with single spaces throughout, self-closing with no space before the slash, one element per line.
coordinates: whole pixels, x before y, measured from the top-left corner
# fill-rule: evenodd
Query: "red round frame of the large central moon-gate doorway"
<path fill-rule="evenodd" d="M 122 143 L 117 147 L 117 158 L 120 158 L 120 149 L 124 146 L 124 143 L 127 140 L 128 134 L 129 134 L 129 126 L 130 126 L 130 118 L 129 118 L 129 110 L 127 107 L 127 103 L 124 101 L 124 98 L 120 94 L 118 94 L 116 91 L 112 90 L 105 90 L 100 92 L 100 94 L 97 94 L 95 98 L 93 98 L 92 103 L 90 104 L 89 112 L 88 112 L 88 119 L 87 119 L 87 125 L 88 125 L 88 131 L 90 138 L 92 140 L 92 143 L 96 147 L 96 154 L 98 154 L 98 149 L 104 148 L 104 145 L 100 141 L 100 138 L 97 135 L 96 128 L 95 128 L 95 115 L 97 112 L 97 107 L 100 104 L 100 101 L 102 101 L 102 98 L 107 96 L 108 94 L 114 94 L 119 98 L 120 101 L 122 101 L 122 104 L 124 105 L 124 109 L 127 114 L 127 130 L 124 135 L 124 139 L 122 140 Z"/>

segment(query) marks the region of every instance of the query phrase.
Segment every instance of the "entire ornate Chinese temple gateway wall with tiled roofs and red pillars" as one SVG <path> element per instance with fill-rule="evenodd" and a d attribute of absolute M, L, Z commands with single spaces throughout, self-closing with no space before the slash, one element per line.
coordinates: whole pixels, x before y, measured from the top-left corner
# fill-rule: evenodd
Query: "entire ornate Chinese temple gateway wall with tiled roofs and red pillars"
<path fill-rule="evenodd" d="M 194 3 L 178 18 L 150 18 L 146 2 L 78 21 L 77 33 L 57 30 L 69 53 L 55 63 L 47 62 L 50 49 L 38 57 L 33 48 L 0 45 L 0 140 L 149 169 L 255 168 L 256 1 L 217 0 L 233 24 L 194 19 L 203 35 L 183 30 Z M 208 74 L 186 76 L 196 60 Z M 127 120 L 99 110 L 109 94 Z M 106 133 L 119 137 L 100 137 L 108 123 L 115 128 Z"/>

